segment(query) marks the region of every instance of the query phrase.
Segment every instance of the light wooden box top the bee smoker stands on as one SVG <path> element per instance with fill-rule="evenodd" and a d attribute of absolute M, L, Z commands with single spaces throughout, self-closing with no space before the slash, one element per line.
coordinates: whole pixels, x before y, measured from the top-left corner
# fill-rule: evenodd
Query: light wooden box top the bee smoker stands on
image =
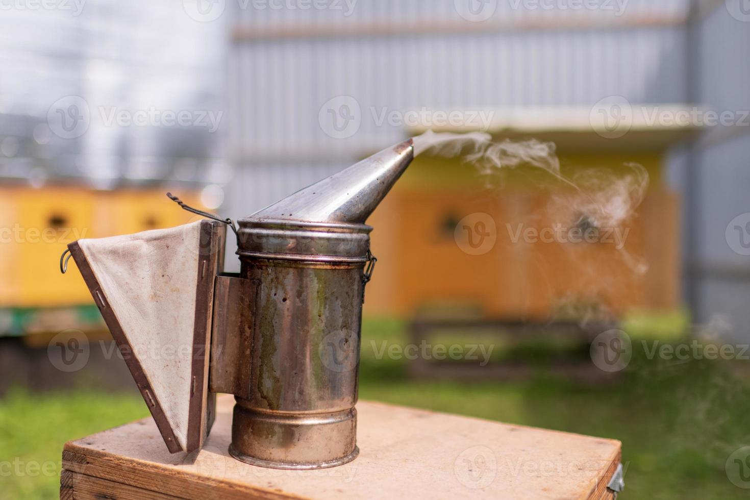
<path fill-rule="evenodd" d="M 192 454 L 167 453 L 151 419 L 68 442 L 61 498 L 613 499 L 618 441 L 362 401 L 356 460 L 263 469 L 227 454 L 233 403 Z"/>

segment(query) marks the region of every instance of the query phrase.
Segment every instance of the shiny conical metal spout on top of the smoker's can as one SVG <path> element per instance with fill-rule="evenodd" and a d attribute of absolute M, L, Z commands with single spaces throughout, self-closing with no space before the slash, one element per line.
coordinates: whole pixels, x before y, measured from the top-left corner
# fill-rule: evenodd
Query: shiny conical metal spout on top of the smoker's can
<path fill-rule="evenodd" d="M 256 220 L 360 223 L 377 205 L 414 158 L 412 139 L 318 181 L 256 212 Z"/>

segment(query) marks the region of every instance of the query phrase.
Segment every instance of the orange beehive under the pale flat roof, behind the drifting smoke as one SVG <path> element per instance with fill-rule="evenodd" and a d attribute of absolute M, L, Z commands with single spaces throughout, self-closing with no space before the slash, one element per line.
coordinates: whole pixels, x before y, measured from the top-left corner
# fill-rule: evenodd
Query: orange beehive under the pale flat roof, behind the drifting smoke
<path fill-rule="evenodd" d="M 561 155 L 565 173 L 622 164 L 619 155 Z M 540 185 L 554 179 L 540 169 L 495 176 L 487 187 L 462 160 L 420 157 L 368 221 L 375 227 L 377 277 L 368 284 L 369 314 L 412 316 L 422 307 L 471 307 L 486 316 L 538 319 L 574 307 L 629 310 L 679 307 L 679 198 L 661 182 L 661 154 L 638 152 L 628 160 L 649 172 L 650 187 L 622 250 L 613 244 L 514 242 L 511 230 L 576 220 L 569 207 L 553 208 Z M 507 174 L 507 175 L 506 175 Z M 552 191 L 551 193 L 554 193 Z M 470 255 L 454 228 L 469 214 L 496 223 L 496 243 Z M 647 267 L 639 269 L 643 263 Z"/>

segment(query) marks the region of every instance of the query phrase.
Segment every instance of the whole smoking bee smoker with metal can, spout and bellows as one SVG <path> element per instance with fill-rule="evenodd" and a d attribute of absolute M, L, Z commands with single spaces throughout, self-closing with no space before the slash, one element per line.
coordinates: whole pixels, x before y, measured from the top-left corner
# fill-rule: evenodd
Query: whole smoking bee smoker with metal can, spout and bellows
<path fill-rule="evenodd" d="M 239 274 L 221 272 L 217 220 L 69 245 L 169 451 L 201 448 L 215 394 L 227 393 L 237 460 L 318 469 L 356 458 L 362 303 L 376 262 L 365 221 L 413 155 L 410 139 L 239 228 L 223 221 L 236 232 Z"/>

